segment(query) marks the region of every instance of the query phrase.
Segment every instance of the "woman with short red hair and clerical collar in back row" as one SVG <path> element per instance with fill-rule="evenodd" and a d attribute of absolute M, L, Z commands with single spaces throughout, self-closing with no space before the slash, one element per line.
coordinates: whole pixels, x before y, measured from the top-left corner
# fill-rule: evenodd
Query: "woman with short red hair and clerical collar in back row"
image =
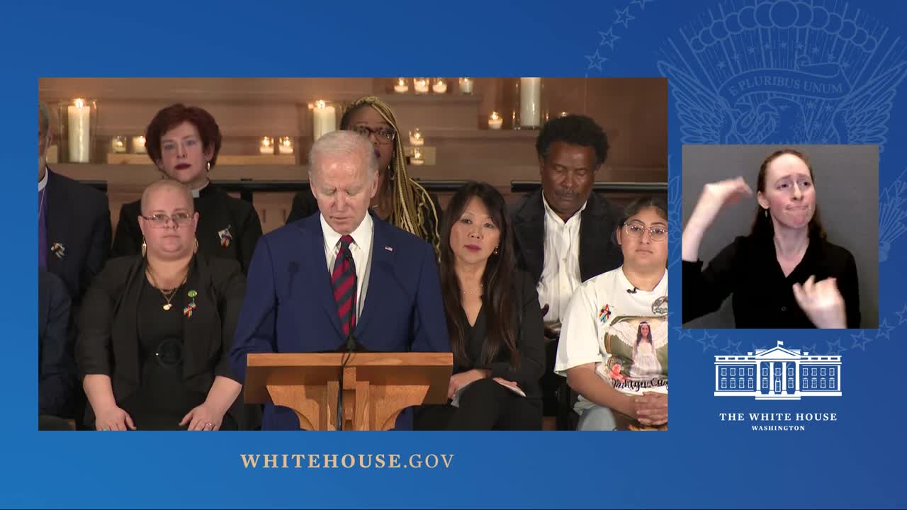
<path fill-rule="evenodd" d="M 173 104 L 151 119 L 145 132 L 148 157 L 164 178 L 185 184 L 199 213 L 199 251 L 208 257 L 239 262 L 249 271 L 249 260 L 261 237 L 258 212 L 247 201 L 231 197 L 208 180 L 218 161 L 222 136 L 214 117 L 196 106 Z M 136 255 L 141 247 L 139 201 L 123 204 L 113 236 L 113 257 Z"/>

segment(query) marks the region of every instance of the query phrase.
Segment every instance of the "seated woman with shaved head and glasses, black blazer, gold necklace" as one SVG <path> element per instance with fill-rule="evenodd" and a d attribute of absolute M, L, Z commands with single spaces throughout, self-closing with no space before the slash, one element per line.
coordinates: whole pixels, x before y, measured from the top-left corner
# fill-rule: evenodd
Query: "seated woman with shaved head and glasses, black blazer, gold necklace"
<path fill-rule="evenodd" d="M 196 255 L 190 191 L 157 181 L 141 199 L 142 256 L 108 261 L 85 295 L 76 360 L 97 430 L 236 429 L 228 352 L 245 292 L 235 260 Z"/>

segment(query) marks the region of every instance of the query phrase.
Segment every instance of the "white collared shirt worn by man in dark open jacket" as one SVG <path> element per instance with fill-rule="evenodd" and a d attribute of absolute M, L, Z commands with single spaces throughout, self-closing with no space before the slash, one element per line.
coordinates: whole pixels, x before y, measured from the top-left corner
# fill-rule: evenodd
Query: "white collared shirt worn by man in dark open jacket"
<path fill-rule="evenodd" d="M 546 324 L 555 324 L 561 320 L 570 302 L 573 291 L 580 286 L 580 222 L 582 211 L 570 217 L 566 222 L 561 220 L 548 205 L 545 195 L 541 195 L 545 208 L 544 265 L 536 290 L 539 292 L 539 305 L 548 305 L 545 315 Z"/>

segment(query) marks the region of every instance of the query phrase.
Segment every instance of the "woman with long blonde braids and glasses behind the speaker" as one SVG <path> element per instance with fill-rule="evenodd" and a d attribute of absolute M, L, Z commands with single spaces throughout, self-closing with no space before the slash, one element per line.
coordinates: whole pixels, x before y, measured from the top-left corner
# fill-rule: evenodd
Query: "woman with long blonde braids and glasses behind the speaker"
<path fill-rule="evenodd" d="M 378 191 L 372 199 L 372 209 L 378 217 L 428 241 L 437 254 L 441 207 L 437 199 L 406 172 L 403 141 L 391 107 L 375 96 L 361 97 L 343 114 L 340 129 L 358 132 L 375 147 Z M 312 192 L 298 192 L 293 197 L 287 222 L 301 220 L 317 211 L 318 204 Z"/>

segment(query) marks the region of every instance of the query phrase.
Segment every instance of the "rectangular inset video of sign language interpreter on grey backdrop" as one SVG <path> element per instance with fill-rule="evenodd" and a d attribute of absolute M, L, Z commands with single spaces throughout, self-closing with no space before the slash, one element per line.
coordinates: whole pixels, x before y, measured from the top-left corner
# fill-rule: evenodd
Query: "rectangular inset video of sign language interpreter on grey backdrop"
<path fill-rule="evenodd" d="M 684 145 L 682 164 L 683 328 L 878 328 L 878 145 Z M 840 319 L 795 295 L 822 282 Z"/>

